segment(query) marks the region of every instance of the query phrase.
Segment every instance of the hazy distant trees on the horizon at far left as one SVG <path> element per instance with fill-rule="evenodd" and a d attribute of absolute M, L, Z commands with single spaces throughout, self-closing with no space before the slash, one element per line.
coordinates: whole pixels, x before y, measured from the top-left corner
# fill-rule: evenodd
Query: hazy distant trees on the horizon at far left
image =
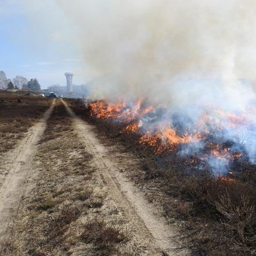
<path fill-rule="evenodd" d="M 31 90 L 31 91 L 40 91 L 41 85 L 36 78 L 32 78 L 28 81 L 27 78 L 23 76 L 16 76 L 15 78 L 8 79 L 6 77 L 5 72 L 0 70 L 0 89 L 24 89 L 24 90 Z"/>

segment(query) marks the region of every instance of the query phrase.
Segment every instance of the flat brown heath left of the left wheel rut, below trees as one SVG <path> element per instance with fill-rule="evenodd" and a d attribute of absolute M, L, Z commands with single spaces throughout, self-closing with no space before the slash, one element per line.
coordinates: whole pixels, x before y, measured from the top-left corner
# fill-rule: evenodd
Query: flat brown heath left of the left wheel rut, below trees
<path fill-rule="evenodd" d="M 18 93 L 0 91 L 0 153 L 13 149 L 50 103 L 41 97 L 21 97 Z"/>

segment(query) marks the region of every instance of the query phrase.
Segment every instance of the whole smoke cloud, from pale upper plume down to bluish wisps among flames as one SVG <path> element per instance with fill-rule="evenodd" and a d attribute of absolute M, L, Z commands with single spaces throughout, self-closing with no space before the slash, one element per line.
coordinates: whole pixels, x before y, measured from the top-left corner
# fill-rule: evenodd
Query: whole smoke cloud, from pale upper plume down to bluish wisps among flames
<path fill-rule="evenodd" d="M 180 155 L 197 155 L 213 170 L 227 172 L 237 152 L 255 163 L 255 1 L 55 3 L 76 28 L 84 74 L 97 78 L 93 97 L 123 97 L 130 105 L 143 98 L 163 107 L 154 120 L 141 118 L 140 130 L 160 130 L 163 142 L 170 140 L 166 134 L 200 138 L 183 145 Z M 214 145 L 205 141 L 209 133 Z M 205 147 L 212 155 L 204 155 Z"/>

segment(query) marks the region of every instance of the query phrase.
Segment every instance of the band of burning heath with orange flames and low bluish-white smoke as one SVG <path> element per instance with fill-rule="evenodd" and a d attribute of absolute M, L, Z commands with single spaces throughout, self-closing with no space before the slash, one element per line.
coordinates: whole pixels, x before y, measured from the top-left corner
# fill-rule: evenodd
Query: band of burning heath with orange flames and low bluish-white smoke
<path fill-rule="evenodd" d="M 118 132 L 137 134 L 138 142 L 150 146 L 155 154 L 177 153 L 198 169 L 221 174 L 232 172 L 237 165 L 245 169 L 240 163 L 254 161 L 254 150 L 247 140 L 255 124 L 249 116 L 245 118 L 245 113 L 206 108 L 193 119 L 178 110 L 155 109 L 142 100 L 133 103 L 101 100 L 86 103 L 84 109 L 77 110 L 93 119 L 118 123 L 122 127 Z"/>

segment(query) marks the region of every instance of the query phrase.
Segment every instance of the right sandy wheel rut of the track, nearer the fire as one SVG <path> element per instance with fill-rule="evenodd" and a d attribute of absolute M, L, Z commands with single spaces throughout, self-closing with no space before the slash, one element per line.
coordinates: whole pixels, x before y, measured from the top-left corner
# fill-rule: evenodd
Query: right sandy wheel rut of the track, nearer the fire
<path fill-rule="evenodd" d="M 93 127 L 78 118 L 68 104 L 63 101 L 68 113 L 73 118 L 74 126 L 84 141 L 88 152 L 94 157 L 99 175 L 103 183 L 109 187 L 109 193 L 128 220 L 128 230 L 140 245 L 145 255 L 188 255 L 181 250 L 176 238 L 176 230 L 170 227 L 162 217 L 155 215 L 153 207 L 147 202 L 143 193 L 130 182 L 120 166 L 110 156 L 106 147 L 97 138 Z"/>

